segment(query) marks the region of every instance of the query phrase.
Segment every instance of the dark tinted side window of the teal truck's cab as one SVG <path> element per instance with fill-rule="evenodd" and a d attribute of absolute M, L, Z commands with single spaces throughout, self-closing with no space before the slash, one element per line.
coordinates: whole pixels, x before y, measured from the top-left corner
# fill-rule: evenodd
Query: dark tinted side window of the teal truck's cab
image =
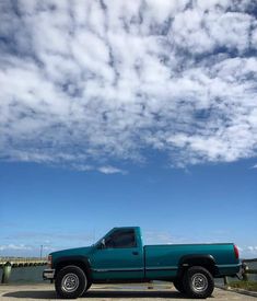
<path fill-rule="evenodd" d="M 135 230 L 116 230 L 105 240 L 106 247 L 136 247 Z"/>

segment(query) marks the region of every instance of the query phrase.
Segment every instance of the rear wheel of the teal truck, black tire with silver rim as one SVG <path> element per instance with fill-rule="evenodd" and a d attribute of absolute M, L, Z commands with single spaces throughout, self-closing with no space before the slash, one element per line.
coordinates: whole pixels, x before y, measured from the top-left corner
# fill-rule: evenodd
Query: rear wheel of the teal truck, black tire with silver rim
<path fill-rule="evenodd" d="M 191 298 L 206 299 L 214 289 L 213 277 L 201 266 L 188 268 L 183 278 L 185 292 Z"/>

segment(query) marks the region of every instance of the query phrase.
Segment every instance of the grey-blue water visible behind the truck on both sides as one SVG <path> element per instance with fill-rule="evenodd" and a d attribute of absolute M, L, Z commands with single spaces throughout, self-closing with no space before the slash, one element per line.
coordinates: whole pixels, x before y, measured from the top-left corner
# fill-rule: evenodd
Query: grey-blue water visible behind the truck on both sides
<path fill-rule="evenodd" d="M 257 269 L 257 262 L 248 263 L 249 268 Z M 10 283 L 43 283 L 48 282 L 43 280 L 43 270 L 46 266 L 37 266 L 37 267 L 16 267 L 12 268 Z M 2 269 L 0 269 L 0 279 L 2 278 Z M 257 274 L 248 275 L 249 280 L 257 281 Z M 235 281 L 237 278 L 229 278 L 229 281 Z M 224 280 L 215 279 L 215 283 L 223 285 Z"/>

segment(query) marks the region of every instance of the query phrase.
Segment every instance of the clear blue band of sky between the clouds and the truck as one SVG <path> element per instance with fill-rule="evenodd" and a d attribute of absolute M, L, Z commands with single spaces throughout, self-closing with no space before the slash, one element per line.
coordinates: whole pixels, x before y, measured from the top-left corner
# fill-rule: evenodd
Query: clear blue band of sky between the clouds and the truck
<path fill-rule="evenodd" d="M 38 255 L 40 244 L 46 254 L 141 225 L 145 243 L 235 242 L 256 256 L 255 162 L 186 171 L 157 157 L 126 175 L 1 163 L 0 254 Z"/>

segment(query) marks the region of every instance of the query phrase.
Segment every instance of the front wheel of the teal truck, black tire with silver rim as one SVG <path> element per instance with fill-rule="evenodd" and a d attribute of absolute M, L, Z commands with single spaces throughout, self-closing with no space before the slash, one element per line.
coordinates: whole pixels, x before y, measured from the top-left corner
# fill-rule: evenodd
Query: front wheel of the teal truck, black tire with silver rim
<path fill-rule="evenodd" d="M 87 278 L 78 266 L 66 266 L 58 271 L 55 281 L 57 296 L 62 299 L 75 299 L 87 287 Z"/>

